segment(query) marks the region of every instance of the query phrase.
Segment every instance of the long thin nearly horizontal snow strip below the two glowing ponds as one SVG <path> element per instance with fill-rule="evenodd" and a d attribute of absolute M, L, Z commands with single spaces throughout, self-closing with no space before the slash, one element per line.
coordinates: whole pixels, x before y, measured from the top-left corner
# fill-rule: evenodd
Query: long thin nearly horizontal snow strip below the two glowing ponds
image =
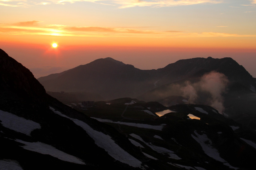
<path fill-rule="evenodd" d="M 112 121 L 108 119 L 100 119 L 96 117 L 91 117 L 92 119 L 96 119 L 100 122 L 108 122 L 108 123 L 117 123 L 120 125 L 127 125 L 127 126 L 133 126 L 133 127 L 139 127 L 139 128 L 145 128 L 145 129 L 154 129 L 158 131 L 162 131 L 164 125 L 166 124 L 161 124 L 161 125 L 148 125 L 148 124 L 141 124 L 141 123 L 130 123 L 130 122 L 121 122 L 121 121 Z"/>

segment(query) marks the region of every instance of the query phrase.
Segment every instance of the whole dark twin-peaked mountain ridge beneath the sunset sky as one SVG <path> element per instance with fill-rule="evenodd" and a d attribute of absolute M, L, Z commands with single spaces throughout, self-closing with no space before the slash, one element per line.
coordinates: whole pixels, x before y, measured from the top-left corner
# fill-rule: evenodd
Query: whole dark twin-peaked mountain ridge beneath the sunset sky
<path fill-rule="evenodd" d="M 211 57 L 180 60 L 157 70 L 140 70 L 111 58 L 98 59 L 38 80 L 47 91 L 93 92 L 106 100 L 112 100 L 136 98 L 159 86 L 199 77 L 211 71 L 223 73 L 230 82 L 256 88 L 254 78 L 236 61 Z"/>

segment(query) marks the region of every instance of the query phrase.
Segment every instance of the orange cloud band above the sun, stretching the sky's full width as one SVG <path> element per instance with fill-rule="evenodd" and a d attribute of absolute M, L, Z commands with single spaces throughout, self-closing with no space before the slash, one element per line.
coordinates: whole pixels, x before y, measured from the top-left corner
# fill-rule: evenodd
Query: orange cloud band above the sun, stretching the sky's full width
<path fill-rule="evenodd" d="M 40 25 L 40 21 L 23 21 L 13 24 L 1 24 L 0 34 L 8 35 L 57 35 L 79 37 L 256 37 L 218 32 L 185 32 L 179 30 L 156 31 L 124 27 L 74 27 L 68 25 Z M 227 26 L 218 26 L 227 27 Z M 142 27 L 143 28 L 143 27 Z"/>

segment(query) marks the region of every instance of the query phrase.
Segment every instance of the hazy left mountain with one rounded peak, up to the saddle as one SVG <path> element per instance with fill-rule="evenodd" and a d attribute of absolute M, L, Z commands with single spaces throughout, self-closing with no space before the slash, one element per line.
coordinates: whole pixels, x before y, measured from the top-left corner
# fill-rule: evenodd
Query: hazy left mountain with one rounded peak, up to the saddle
<path fill-rule="evenodd" d="M 38 80 L 47 91 L 92 92 L 103 98 L 114 99 L 119 96 L 136 96 L 141 89 L 152 89 L 153 75 L 152 71 L 140 70 L 106 58 Z"/>

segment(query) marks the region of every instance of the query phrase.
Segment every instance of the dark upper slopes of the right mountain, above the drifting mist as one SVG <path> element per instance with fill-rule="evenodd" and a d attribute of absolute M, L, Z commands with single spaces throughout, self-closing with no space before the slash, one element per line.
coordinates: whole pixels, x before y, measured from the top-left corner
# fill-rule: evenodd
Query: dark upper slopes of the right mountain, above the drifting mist
<path fill-rule="evenodd" d="M 205 72 L 216 71 L 223 73 L 228 77 L 230 82 L 239 82 L 251 88 L 250 85 L 256 86 L 254 78 L 232 58 L 213 59 L 194 58 L 179 60 L 176 63 L 168 64 L 164 68 L 158 69 L 163 76 L 163 80 L 159 84 L 167 84 L 184 78 L 189 78 L 194 75 L 201 75 Z"/>

